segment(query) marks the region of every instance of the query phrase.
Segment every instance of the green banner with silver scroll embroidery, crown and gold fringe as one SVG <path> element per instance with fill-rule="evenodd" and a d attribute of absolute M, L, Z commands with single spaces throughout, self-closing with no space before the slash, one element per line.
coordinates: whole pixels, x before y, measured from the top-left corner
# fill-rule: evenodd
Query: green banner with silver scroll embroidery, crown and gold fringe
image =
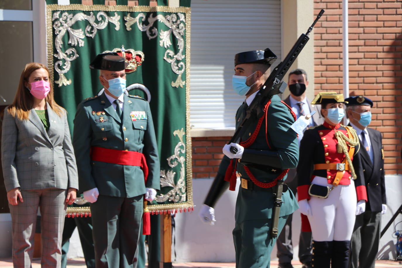
<path fill-rule="evenodd" d="M 127 90 L 150 102 L 159 148 L 161 190 L 148 208 L 153 213 L 193 209 L 187 131 L 190 8 L 51 2 L 47 1 L 48 67 L 55 100 L 66 108 L 70 130 L 77 105 L 103 88 L 99 71 L 89 69 L 89 63 L 106 51 L 125 56 Z"/>

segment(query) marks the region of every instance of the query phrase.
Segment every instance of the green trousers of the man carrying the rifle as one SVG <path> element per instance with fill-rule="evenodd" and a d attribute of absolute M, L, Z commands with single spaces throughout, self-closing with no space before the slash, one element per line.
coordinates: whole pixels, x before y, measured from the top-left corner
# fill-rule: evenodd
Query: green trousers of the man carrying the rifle
<path fill-rule="evenodd" d="M 289 215 L 279 217 L 281 233 Z M 276 238 L 271 237 L 272 219 L 259 219 L 236 223 L 233 229 L 236 250 L 236 268 L 269 268 L 271 252 Z"/>

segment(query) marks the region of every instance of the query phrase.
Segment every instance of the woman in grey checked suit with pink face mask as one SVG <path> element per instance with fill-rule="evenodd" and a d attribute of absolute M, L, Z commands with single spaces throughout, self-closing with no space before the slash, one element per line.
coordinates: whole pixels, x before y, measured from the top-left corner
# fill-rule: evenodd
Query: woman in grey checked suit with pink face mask
<path fill-rule="evenodd" d="M 31 267 L 38 208 L 42 267 L 60 267 L 67 204 L 78 189 L 66 110 L 53 100 L 49 70 L 28 63 L 4 112 L 2 166 L 12 218 L 14 267 Z"/>

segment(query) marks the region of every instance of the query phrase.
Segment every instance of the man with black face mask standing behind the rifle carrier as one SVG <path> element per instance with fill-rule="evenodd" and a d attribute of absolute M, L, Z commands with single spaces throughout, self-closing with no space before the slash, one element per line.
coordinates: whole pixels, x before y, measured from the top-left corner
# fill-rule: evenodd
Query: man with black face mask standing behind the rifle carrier
<path fill-rule="evenodd" d="M 289 105 L 296 117 L 299 118 L 301 115 L 308 115 L 312 111 L 316 113 L 310 119 L 309 127 L 314 127 L 316 125 L 321 125 L 324 118 L 321 116 L 319 104 L 310 104 L 310 100 L 306 98 L 306 89 L 308 87 L 307 74 L 304 70 L 296 69 L 289 73 L 289 91 L 290 94 L 283 100 L 287 105 Z M 298 137 L 299 144 L 303 138 L 303 133 Z M 297 180 L 296 169 L 289 170 L 288 179 L 286 184 L 289 188 L 296 193 Z M 299 240 L 299 260 L 303 264 L 303 268 L 311 268 L 311 232 L 301 232 Z M 293 259 L 293 245 L 292 245 L 292 215 L 287 218 L 285 227 L 277 240 L 277 257 L 279 259 L 279 268 L 293 268 L 291 265 L 291 260 Z"/>

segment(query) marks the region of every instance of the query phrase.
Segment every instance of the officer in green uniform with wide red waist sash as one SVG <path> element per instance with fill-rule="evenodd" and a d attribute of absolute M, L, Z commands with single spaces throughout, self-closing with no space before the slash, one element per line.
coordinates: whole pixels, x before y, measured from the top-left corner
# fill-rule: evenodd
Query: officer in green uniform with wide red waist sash
<path fill-rule="evenodd" d="M 144 199 L 160 187 L 160 165 L 148 102 L 125 91 L 125 59 L 99 54 L 90 68 L 100 70 L 105 92 L 77 107 L 74 151 L 80 190 L 90 202 L 95 264 L 137 267 L 137 243 Z"/>

